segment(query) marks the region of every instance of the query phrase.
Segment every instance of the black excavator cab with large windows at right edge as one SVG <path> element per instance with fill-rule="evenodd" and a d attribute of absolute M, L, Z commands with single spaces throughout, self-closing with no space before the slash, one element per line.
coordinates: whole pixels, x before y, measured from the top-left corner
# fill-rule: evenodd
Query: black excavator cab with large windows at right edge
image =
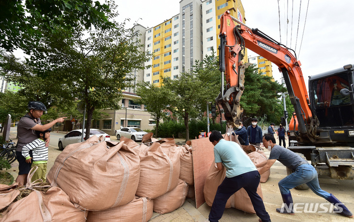
<path fill-rule="evenodd" d="M 320 122 L 318 134 L 329 131 L 326 142 L 354 145 L 354 73 L 353 66 L 348 67 L 310 77 L 309 97 Z M 321 136 L 318 139 L 324 140 Z"/>

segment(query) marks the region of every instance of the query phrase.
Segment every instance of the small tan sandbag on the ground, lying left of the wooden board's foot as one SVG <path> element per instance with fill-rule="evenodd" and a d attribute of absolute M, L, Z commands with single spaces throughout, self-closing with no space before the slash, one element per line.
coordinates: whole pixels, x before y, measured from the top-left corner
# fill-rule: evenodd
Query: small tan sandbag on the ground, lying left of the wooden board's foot
<path fill-rule="evenodd" d="M 187 194 L 187 183 L 179 180 L 175 189 L 154 199 L 153 211 L 160 214 L 170 213 L 183 205 Z"/>

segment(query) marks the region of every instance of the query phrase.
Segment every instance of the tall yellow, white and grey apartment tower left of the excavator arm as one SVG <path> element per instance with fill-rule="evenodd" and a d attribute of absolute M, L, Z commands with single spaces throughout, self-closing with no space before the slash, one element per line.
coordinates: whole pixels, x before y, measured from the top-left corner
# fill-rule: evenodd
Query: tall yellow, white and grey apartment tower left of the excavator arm
<path fill-rule="evenodd" d="M 240 0 L 181 0 L 179 14 L 148 28 L 145 51 L 154 57 L 146 62 L 151 68 L 144 70 L 144 81 L 160 86 L 161 78 L 176 79 L 181 72 L 192 71 L 196 60 L 212 51 L 218 54 L 220 17 L 228 9 L 245 22 Z"/>

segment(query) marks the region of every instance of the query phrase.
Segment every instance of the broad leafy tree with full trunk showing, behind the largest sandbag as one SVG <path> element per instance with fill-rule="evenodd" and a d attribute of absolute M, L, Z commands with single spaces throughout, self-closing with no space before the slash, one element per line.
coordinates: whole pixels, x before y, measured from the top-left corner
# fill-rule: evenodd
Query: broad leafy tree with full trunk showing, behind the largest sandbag
<path fill-rule="evenodd" d="M 109 14 L 112 20 L 116 15 Z M 50 106 L 73 105 L 80 95 L 87 109 L 88 139 L 93 112 L 120 109 L 122 89 L 131 87 L 135 78 L 129 73 L 144 69 L 144 62 L 151 57 L 141 50 L 140 33 L 124 27 L 125 23 L 95 29 L 78 26 L 70 31 L 42 29 L 43 37 L 20 66 L 23 69 L 11 69 L 7 62 L 2 66 L 3 73 L 8 74 L 8 80 L 24 86 L 32 98 Z M 11 59 L 4 57 L 6 61 Z"/>

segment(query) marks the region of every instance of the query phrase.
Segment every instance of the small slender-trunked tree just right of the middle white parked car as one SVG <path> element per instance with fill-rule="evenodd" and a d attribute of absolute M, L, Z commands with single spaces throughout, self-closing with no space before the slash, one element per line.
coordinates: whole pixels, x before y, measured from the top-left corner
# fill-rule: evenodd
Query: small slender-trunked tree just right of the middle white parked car
<path fill-rule="evenodd" d="M 172 96 L 171 91 L 167 90 L 165 85 L 157 87 L 155 84 L 142 82 L 138 83 L 136 93 L 140 96 L 136 102 L 144 104 L 147 111 L 153 116 L 153 120 L 156 121 L 155 137 L 157 137 L 160 119 L 169 105 L 168 98 Z"/>

